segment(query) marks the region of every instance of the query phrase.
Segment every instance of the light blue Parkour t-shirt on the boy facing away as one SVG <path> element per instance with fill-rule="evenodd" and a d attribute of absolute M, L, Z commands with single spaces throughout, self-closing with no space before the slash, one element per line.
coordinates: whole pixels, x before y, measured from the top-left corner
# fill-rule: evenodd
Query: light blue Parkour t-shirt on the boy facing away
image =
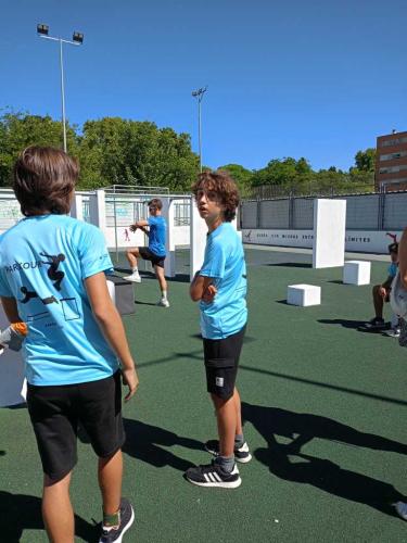
<path fill-rule="evenodd" d="M 101 230 L 66 215 L 24 218 L 0 238 L 0 295 L 16 300 L 27 324 L 30 384 L 96 381 L 117 370 L 84 286 L 112 269 Z"/>

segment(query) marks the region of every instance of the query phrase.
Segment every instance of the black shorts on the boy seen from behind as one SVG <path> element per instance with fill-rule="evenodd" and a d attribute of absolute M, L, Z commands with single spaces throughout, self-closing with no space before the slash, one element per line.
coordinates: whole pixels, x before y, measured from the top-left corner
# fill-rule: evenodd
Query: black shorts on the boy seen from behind
<path fill-rule="evenodd" d="M 42 470 L 52 481 L 65 477 L 77 462 L 79 422 L 101 458 L 117 452 L 125 441 L 119 371 L 79 384 L 28 384 L 27 405 Z"/>

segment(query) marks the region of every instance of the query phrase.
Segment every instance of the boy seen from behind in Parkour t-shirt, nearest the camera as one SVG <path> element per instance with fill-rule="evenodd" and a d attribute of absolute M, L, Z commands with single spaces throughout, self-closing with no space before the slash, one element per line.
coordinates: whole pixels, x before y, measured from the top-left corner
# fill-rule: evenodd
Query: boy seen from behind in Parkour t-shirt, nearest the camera
<path fill-rule="evenodd" d="M 44 473 L 48 536 L 74 541 L 69 481 L 80 422 L 99 457 L 99 541 L 111 543 L 122 541 L 133 520 L 122 497 L 119 376 L 128 387 L 126 400 L 138 377 L 106 286 L 113 266 L 103 235 L 66 216 L 77 177 L 76 162 L 58 149 L 30 147 L 20 155 L 13 189 L 25 218 L 0 240 L 0 296 L 10 323 L 28 328 L 27 405 Z"/>

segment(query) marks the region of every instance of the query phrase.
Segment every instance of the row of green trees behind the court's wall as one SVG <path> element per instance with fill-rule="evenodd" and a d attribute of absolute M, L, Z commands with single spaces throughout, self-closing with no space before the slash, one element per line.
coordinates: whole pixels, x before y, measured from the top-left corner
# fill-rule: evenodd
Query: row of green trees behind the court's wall
<path fill-rule="evenodd" d="M 49 115 L 4 111 L 0 115 L 0 187 L 11 185 L 14 161 L 27 146 L 61 147 L 61 122 Z M 199 173 L 199 156 L 191 149 L 189 134 L 158 128 L 148 121 L 104 117 L 87 121 L 82 127 L 66 125 L 67 149 L 80 163 L 80 189 L 114 184 L 163 186 L 188 192 Z M 218 166 L 234 178 L 243 195 L 258 187 L 282 192 L 313 192 L 313 187 L 372 191 L 376 150 L 358 151 L 348 172 L 331 166 L 314 171 L 304 159 L 272 159 L 259 169 L 240 164 Z M 207 168 L 208 169 L 208 168 Z"/>

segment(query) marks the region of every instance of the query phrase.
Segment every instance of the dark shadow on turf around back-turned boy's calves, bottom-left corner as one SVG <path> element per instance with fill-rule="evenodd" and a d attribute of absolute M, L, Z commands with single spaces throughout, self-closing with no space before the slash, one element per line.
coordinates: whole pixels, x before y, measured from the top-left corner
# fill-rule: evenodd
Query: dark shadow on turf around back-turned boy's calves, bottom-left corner
<path fill-rule="evenodd" d="M 42 530 L 46 532 L 41 516 L 41 500 L 27 494 L 11 494 L 0 491 L 1 523 L 0 540 L 7 543 L 17 543 L 24 530 Z M 97 542 L 100 530 L 98 525 L 91 525 L 75 515 L 75 535 L 89 543 Z"/>

